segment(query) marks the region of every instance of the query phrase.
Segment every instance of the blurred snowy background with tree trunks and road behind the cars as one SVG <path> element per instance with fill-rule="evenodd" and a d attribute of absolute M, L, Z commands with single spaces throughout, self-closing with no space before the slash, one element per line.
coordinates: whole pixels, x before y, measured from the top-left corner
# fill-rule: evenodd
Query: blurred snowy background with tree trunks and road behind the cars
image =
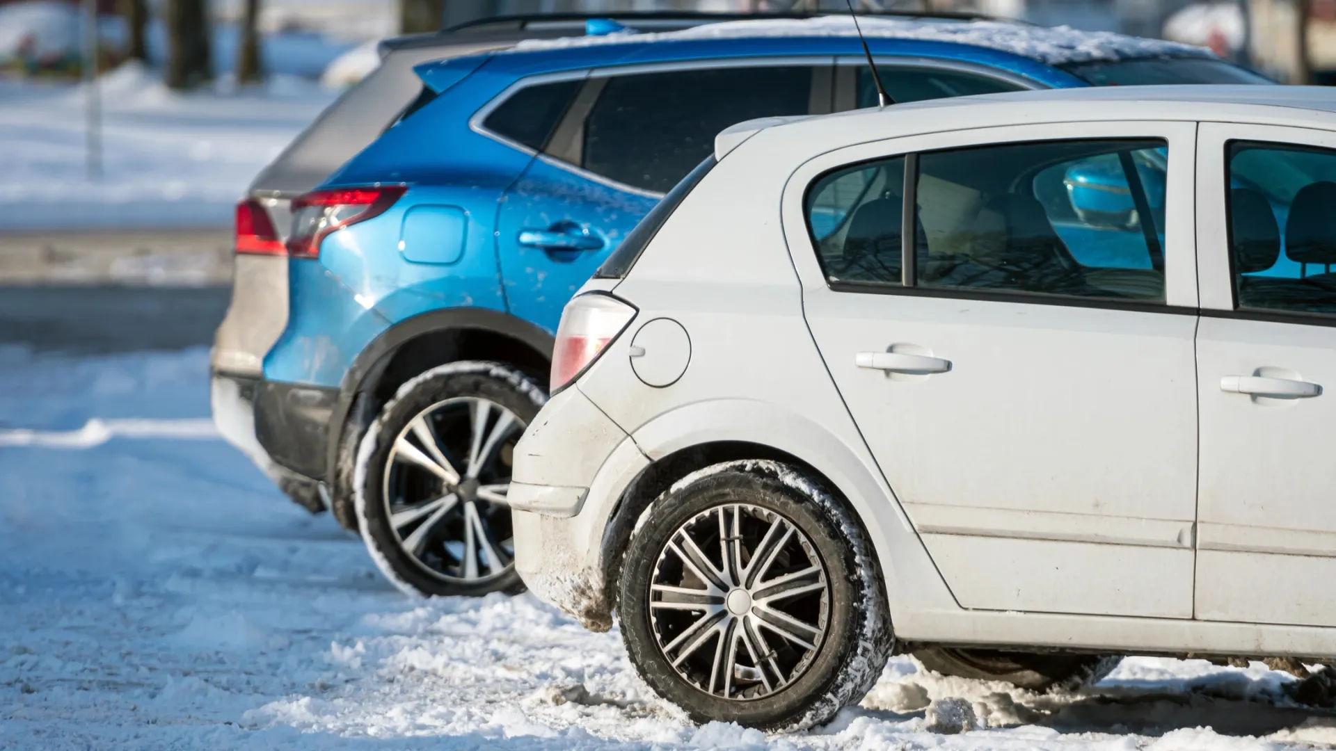
<path fill-rule="evenodd" d="M 1336 80 L 1336 0 L 854 4 L 1165 37 L 1281 82 Z M 238 196 L 375 68 L 383 37 L 521 13 L 844 9 L 844 0 L 0 0 L 0 343 L 208 343 L 227 305 Z"/>

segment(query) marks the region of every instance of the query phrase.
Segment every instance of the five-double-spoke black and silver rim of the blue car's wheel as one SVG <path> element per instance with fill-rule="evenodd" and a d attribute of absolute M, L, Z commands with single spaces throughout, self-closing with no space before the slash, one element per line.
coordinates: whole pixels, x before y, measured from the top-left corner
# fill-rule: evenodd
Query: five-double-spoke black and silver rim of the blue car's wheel
<path fill-rule="evenodd" d="M 390 528 L 432 576 L 480 583 L 510 571 L 506 490 L 524 421 L 477 397 L 437 402 L 394 438 L 383 498 Z"/>

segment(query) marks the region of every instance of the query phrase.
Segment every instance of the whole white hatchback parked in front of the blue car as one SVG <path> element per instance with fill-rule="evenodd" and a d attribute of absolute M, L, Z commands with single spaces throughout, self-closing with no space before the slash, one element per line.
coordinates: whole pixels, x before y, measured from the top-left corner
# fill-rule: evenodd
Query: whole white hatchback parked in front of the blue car
<path fill-rule="evenodd" d="M 1336 657 L 1336 96 L 759 120 L 565 310 L 516 565 L 697 720 Z"/>

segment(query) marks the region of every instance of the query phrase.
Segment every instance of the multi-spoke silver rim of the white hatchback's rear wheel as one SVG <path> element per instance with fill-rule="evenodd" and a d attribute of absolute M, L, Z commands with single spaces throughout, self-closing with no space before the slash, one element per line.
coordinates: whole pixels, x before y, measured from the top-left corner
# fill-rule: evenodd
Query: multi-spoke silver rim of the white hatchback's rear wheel
<path fill-rule="evenodd" d="M 677 675 L 712 696 L 775 694 L 802 676 L 826 637 L 826 567 L 783 516 L 711 508 L 668 539 L 649 583 L 655 640 Z"/>

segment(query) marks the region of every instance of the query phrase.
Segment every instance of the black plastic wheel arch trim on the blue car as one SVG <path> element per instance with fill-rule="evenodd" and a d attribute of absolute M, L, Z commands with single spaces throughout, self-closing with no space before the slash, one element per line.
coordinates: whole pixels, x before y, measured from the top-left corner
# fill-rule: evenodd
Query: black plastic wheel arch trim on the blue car
<path fill-rule="evenodd" d="M 343 374 L 343 382 L 337 389 L 338 400 L 329 416 L 326 440 L 321 444 L 325 448 L 325 461 L 321 466 L 321 477 L 333 477 L 338 466 L 339 442 L 343 438 L 343 429 L 347 425 L 349 413 L 357 394 L 362 393 L 375 382 L 374 374 L 383 367 L 395 350 L 405 342 L 446 330 L 485 330 L 493 331 L 533 349 L 542 357 L 552 359 L 552 347 L 556 343 L 552 334 L 538 326 L 504 313 L 486 307 L 449 307 L 445 310 L 432 310 L 421 315 L 414 315 L 401 321 L 381 333 L 379 337 L 366 345 L 357 359 Z"/>

